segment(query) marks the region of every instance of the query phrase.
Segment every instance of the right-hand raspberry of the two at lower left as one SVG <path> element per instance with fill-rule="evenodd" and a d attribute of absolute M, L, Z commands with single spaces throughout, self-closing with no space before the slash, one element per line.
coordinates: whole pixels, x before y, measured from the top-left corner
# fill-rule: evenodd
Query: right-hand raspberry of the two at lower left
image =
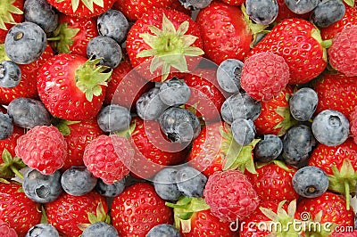
<path fill-rule="evenodd" d="M 127 138 L 118 135 L 99 135 L 87 144 L 83 161 L 93 176 L 105 184 L 113 184 L 129 174 L 134 157 Z"/>

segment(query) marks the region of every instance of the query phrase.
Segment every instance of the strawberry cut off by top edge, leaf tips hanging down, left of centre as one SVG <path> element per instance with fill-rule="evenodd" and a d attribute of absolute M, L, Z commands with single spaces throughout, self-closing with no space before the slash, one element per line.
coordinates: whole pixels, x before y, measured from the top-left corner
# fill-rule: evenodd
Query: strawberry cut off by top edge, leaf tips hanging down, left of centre
<path fill-rule="evenodd" d="M 79 18 L 98 16 L 111 9 L 113 0 L 47 0 L 58 11 Z"/>

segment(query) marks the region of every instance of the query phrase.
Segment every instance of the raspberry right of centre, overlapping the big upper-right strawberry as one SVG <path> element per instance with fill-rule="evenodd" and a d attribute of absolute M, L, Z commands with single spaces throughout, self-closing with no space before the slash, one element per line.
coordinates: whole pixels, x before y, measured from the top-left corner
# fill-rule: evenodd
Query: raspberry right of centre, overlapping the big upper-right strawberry
<path fill-rule="evenodd" d="M 255 53 L 245 61 L 241 86 L 256 101 L 270 101 L 286 87 L 289 67 L 275 53 Z"/>

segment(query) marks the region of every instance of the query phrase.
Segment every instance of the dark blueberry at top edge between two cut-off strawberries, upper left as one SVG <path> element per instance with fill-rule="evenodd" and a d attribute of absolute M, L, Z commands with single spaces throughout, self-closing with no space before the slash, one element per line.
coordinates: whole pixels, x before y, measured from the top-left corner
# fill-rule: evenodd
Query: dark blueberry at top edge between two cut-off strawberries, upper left
<path fill-rule="evenodd" d="M 36 23 L 46 33 L 54 31 L 58 26 L 58 14 L 46 0 L 26 0 L 23 15 L 26 21 Z"/>

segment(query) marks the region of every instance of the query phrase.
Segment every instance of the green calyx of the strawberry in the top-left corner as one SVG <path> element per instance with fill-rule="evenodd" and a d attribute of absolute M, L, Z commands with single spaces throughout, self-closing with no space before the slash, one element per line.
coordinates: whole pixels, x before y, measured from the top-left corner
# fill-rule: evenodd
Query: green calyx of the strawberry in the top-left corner
<path fill-rule="evenodd" d="M 12 14 L 23 14 L 23 12 L 13 5 L 15 0 L 1 0 L 0 1 L 0 29 L 6 30 L 5 23 L 16 24 L 13 20 Z"/>

